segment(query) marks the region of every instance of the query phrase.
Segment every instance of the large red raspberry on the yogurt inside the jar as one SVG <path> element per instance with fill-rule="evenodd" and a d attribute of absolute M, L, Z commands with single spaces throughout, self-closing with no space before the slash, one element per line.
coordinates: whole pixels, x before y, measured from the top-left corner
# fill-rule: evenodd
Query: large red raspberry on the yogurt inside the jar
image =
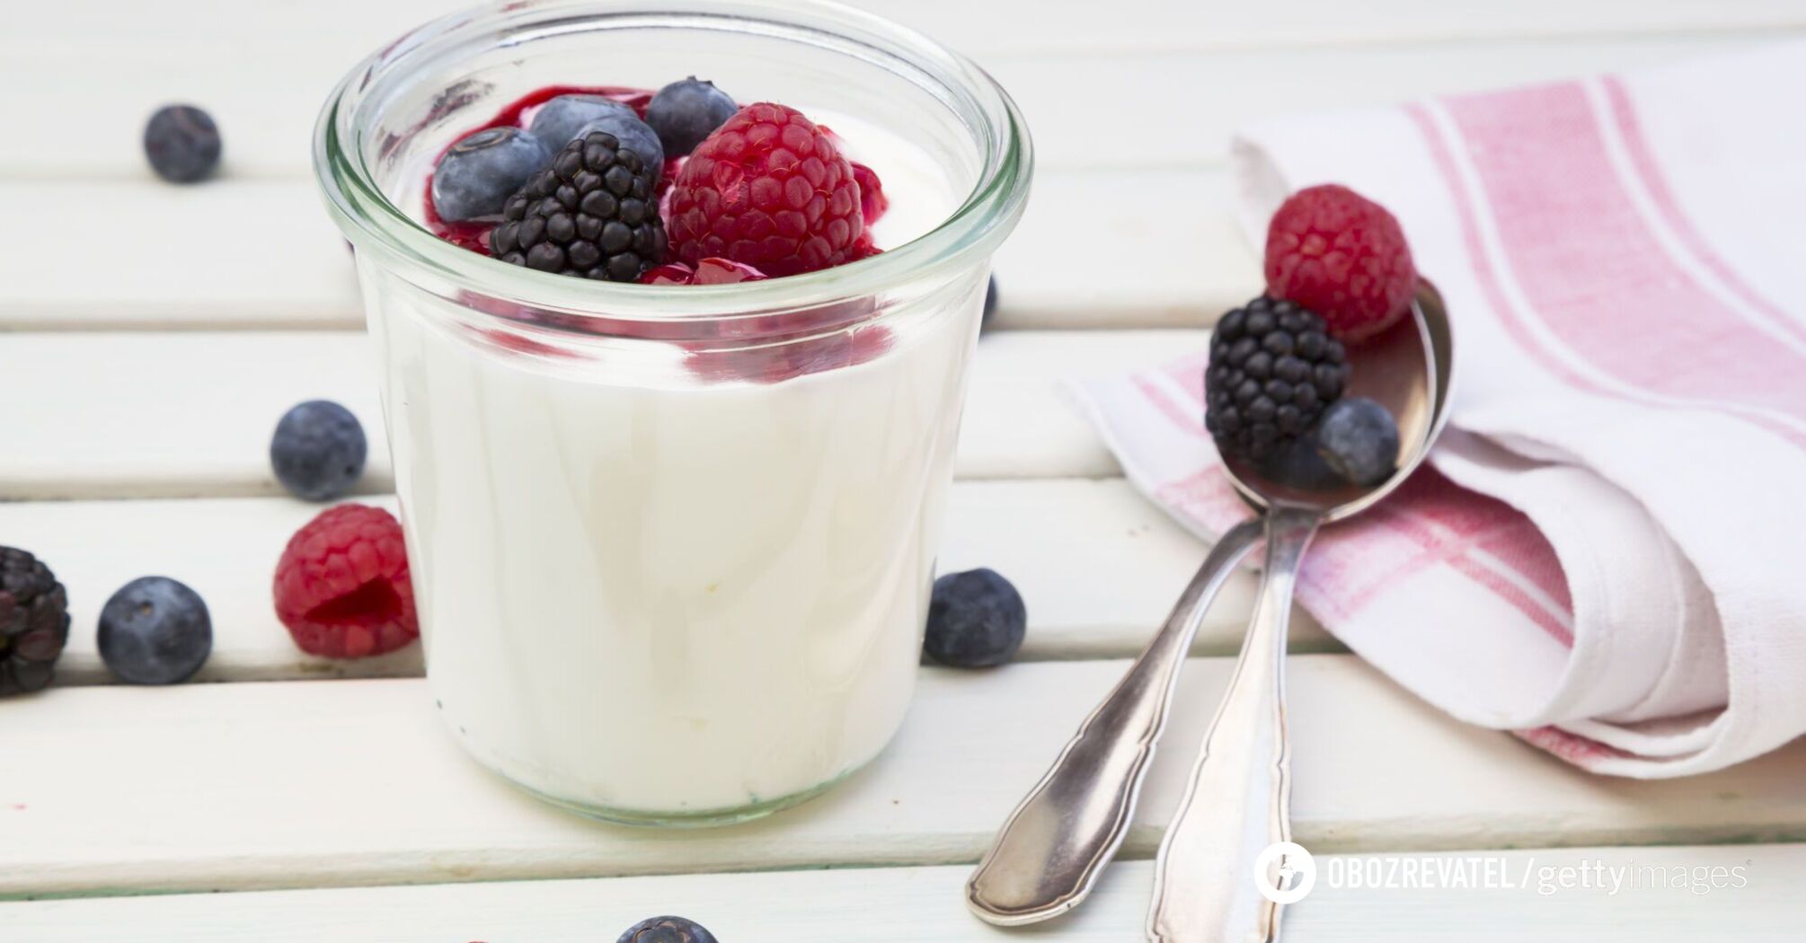
<path fill-rule="evenodd" d="M 759 103 L 715 128 L 677 172 L 670 240 L 677 260 L 712 255 L 782 276 L 858 258 L 860 182 L 802 112 Z"/>

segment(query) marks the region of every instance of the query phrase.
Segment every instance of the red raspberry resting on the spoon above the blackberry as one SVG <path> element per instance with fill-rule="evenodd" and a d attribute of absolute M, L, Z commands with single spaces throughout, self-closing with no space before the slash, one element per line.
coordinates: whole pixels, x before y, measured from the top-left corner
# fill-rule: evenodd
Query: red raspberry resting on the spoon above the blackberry
<path fill-rule="evenodd" d="M 1345 186 L 1300 190 L 1268 224 L 1268 294 L 1315 311 L 1342 340 L 1371 338 L 1396 323 L 1416 287 L 1398 219 Z"/>

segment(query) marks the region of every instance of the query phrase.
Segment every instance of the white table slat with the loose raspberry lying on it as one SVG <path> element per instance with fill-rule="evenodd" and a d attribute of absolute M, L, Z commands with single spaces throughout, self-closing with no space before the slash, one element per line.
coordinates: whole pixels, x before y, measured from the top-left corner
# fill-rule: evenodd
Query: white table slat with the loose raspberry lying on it
<path fill-rule="evenodd" d="M 368 502 L 394 509 L 394 499 Z M 72 632 L 60 685 L 110 679 L 94 647 L 99 609 L 150 573 L 191 585 L 213 618 L 213 656 L 199 681 L 419 676 L 419 649 L 330 661 L 303 654 L 269 598 L 291 533 L 320 513 L 289 499 L 63 500 L 0 504 L 0 544 L 29 547 L 69 587 Z M 1205 547 L 1122 479 L 964 481 L 946 509 L 945 573 L 988 565 L 1022 591 L 1022 659 L 1125 658 L 1167 618 Z M 1237 574 L 1199 629 L 1196 654 L 1233 654 L 1253 605 Z M 1299 612 L 1295 650 L 1336 650 Z"/>

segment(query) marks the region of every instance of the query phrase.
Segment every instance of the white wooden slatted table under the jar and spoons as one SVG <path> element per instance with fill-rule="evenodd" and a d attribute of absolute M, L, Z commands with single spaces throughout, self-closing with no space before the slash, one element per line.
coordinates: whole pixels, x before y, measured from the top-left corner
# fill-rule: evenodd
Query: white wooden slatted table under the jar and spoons
<path fill-rule="evenodd" d="M 74 630 L 56 690 L 0 703 L 0 941 L 609 941 L 657 912 L 724 943 L 1011 936 L 964 912 L 964 874 L 1205 553 L 1131 491 L 1053 383 L 1197 349 L 1257 291 L 1224 201 L 1228 130 L 1806 31 L 1799 0 L 863 4 L 979 58 L 1040 150 L 997 260 L 1001 331 L 981 341 L 941 555 L 1008 573 L 1031 634 L 997 672 L 925 668 L 896 744 L 829 797 L 683 835 L 513 793 L 442 735 L 415 650 L 311 659 L 269 605 L 275 558 L 316 511 L 278 497 L 275 419 L 332 397 L 381 443 L 350 260 L 309 177 L 314 112 L 444 0 L 5 9 L 0 544 L 56 567 Z M 204 186 L 143 164 L 144 117 L 177 99 L 226 137 L 226 173 Z M 1071 206 L 1107 213 L 1123 276 L 1062 262 Z M 390 500 L 381 448 L 363 486 Z M 98 609 L 146 573 L 206 596 L 211 683 L 107 685 Z M 1013 936 L 1140 938 L 1147 858 L 1250 589 L 1233 584 L 1199 636 L 1125 862 L 1073 918 Z M 1448 721 L 1308 621 L 1293 647 L 1299 840 L 1499 856 L 1531 887 L 1320 882 L 1288 939 L 1799 938 L 1806 845 L 1784 842 L 1806 842 L 1806 742 L 1710 777 L 1597 779 Z M 1541 869 L 1593 860 L 1743 867 L 1746 885 L 1537 892 Z"/>

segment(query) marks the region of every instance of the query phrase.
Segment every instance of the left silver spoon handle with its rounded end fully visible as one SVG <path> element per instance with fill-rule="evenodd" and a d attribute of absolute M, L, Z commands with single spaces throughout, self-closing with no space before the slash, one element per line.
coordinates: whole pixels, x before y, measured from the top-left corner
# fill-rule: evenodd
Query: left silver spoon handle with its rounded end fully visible
<path fill-rule="evenodd" d="M 1217 540 L 1167 625 L 997 833 L 966 882 L 972 912 L 1013 927 L 1064 914 L 1085 900 L 1129 831 L 1197 623 L 1259 538 L 1259 522 L 1248 520 Z"/>

